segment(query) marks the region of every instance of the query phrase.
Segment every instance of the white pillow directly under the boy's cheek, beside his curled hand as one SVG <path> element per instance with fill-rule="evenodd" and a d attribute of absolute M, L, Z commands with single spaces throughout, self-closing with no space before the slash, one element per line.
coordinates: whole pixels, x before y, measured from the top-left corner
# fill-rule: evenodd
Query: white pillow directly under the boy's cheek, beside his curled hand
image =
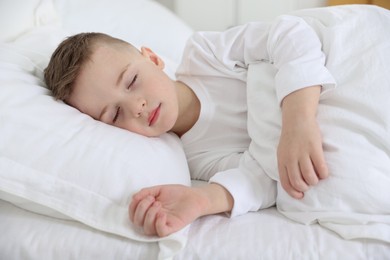
<path fill-rule="evenodd" d="M 127 238 L 158 240 L 137 232 L 127 207 L 143 187 L 190 185 L 178 137 L 136 135 L 54 101 L 34 66 L 21 51 L 0 47 L 1 198 Z M 165 240 L 164 256 L 184 243 L 181 233 Z"/>

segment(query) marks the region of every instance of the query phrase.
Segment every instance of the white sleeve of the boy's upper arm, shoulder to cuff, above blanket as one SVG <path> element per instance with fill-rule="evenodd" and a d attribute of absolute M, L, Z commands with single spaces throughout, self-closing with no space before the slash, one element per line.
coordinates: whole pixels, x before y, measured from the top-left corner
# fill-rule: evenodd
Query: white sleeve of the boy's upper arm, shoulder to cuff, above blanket
<path fill-rule="evenodd" d="M 243 75 L 251 63 L 273 64 L 279 103 L 301 88 L 321 85 L 324 92 L 336 86 L 325 66 L 320 38 L 300 17 L 284 15 L 273 23 L 253 22 L 223 33 L 199 33 L 194 40 L 210 52 L 210 60 L 216 58 L 222 64 L 224 73 Z"/>

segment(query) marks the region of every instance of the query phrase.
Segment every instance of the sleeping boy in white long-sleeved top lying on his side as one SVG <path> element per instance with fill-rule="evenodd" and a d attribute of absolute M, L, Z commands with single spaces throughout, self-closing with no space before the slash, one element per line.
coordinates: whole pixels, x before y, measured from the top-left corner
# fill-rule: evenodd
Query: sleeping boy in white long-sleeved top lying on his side
<path fill-rule="evenodd" d="M 96 120 L 148 137 L 171 131 L 181 138 L 191 177 L 209 183 L 145 188 L 129 205 L 131 221 L 145 234 L 167 236 L 201 216 L 233 217 L 270 207 L 278 183 L 291 197 L 303 199 L 326 182 L 317 111 L 320 97 L 336 85 L 326 59 L 312 26 L 282 16 L 273 23 L 195 33 L 176 80 L 147 47 L 137 50 L 105 34 L 80 33 L 58 46 L 45 81 L 55 98 Z M 248 68 L 259 63 L 277 70 L 276 177 L 249 151 L 246 84 Z"/>

